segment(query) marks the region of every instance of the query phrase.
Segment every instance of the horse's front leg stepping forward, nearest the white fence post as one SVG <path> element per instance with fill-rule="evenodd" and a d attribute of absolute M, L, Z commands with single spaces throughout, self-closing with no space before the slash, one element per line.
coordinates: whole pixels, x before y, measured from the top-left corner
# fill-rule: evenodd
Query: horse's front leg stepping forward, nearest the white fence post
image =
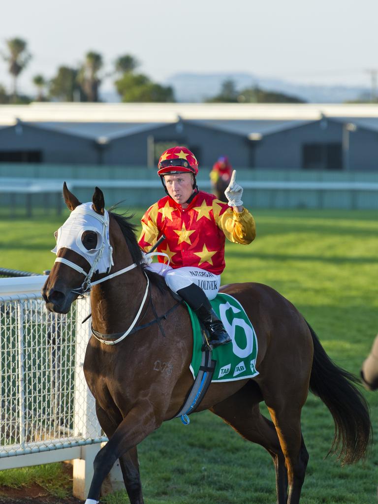
<path fill-rule="evenodd" d="M 127 459 L 123 456 L 141 443 L 160 424 L 161 420 L 157 420 L 150 403 L 138 404 L 128 413 L 95 457 L 94 474 L 85 504 L 97 504 L 102 482 L 116 460 L 121 458 L 125 462 Z"/>

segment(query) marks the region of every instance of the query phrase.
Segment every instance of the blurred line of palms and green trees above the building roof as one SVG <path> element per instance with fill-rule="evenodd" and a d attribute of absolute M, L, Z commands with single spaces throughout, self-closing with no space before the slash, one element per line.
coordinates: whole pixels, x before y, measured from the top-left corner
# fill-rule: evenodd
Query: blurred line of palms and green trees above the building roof
<path fill-rule="evenodd" d="M 22 38 L 6 40 L 1 51 L 12 77 L 12 89 L 7 92 L 0 83 L 0 103 L 29 103 L 32 97 L 18 92 L 18 78 L 25 70 L 32 54 Z M 88 51 L 78 67 L 60 66 L 56 74 L 47 79 L 42 74 L 33 77 L 36 101 L 99 102 L 99 88 L 104 78 L 113 77 L 115 89 L 122 102 L 174 102 L 171 86 L 153 82 L 147 75 L 137 72 L 140 62 L 131 54 L 123 54 L 114 61 L 113 70 L 104 72 L 104 60 L 96 51 Z M 303 100 L 283 93 L 271 92 L 252 86 L 237 90 L 232 80 L 226 80 L 218 95 L 206 102 L 219 103 L 303 103 Z"/>

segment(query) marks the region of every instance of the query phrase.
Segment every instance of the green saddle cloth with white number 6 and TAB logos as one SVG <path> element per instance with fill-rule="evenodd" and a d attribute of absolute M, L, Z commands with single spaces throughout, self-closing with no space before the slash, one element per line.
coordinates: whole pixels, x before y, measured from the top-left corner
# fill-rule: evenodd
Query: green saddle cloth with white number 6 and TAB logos
<path fill-rule="evenodd" d="M 258 342 L 253 325 L 239 301 L 229 294 L 218 294 L 210 301 L 223 322 L 232 343 L 214 348 L 212 358 L 217 361 L 212 382 L 233 382 L 257 376 Z M 193 327 L 193 356 L 191 371 L 196 378 L 202 359 L 202 332 L 196 314 L 188 307 Z"/>

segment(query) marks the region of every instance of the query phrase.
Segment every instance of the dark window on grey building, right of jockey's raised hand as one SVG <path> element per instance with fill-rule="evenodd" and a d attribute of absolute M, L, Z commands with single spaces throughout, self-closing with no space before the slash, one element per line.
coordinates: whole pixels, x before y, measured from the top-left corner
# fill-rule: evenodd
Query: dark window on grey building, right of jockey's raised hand
<path fill-rule="evenodd" d="M 341 142 L 302 144 L 302 166 L 307 170 L 342 170 Z"/>

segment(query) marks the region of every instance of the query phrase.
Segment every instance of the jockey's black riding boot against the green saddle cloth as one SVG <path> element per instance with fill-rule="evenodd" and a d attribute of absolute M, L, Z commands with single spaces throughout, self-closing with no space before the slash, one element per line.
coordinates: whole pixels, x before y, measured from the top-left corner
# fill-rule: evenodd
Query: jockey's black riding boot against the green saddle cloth
<path fill-rule="evenodd" d="M 195 311 L 199 321 L 209 333 L 209 345 L 216 347 L 231 341 L 222 321 L 218 319 L 205 292 L 196 284 L 177 291 L 184 301 Z"/>

